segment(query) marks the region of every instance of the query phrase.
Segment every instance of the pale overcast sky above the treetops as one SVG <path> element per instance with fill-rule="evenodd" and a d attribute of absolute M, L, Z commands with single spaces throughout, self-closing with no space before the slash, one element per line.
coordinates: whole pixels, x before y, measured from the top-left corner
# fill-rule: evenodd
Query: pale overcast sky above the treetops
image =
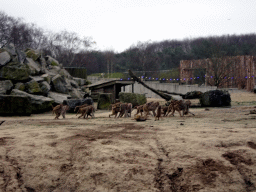
<path fill-rule="evenodd" d="M 0 0 L 0 10 L 45 30 L 92 37 L 102 51 L 256 30 L 256 0 Z"/>

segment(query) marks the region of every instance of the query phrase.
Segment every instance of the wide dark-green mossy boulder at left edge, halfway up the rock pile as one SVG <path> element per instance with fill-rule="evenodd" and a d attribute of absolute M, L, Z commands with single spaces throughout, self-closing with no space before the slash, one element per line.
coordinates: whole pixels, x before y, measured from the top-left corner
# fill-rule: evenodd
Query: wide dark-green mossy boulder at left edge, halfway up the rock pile
<path fill-rule="evenodd" d="M 10 62 L 0 69 L 0 78 L 23 81 L 28 80 L 31 71 L 25 64 Z"/>

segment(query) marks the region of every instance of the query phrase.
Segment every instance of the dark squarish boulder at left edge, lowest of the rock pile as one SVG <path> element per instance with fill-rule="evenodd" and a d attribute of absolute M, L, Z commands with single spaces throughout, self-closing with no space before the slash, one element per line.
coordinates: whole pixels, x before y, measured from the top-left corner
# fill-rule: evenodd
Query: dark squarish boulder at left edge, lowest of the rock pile
<path fill-rule="evenodd" d="M 0 115 L 31 115 L 32 104 L 28 96 L 21 95 L 0 95 Z"/>

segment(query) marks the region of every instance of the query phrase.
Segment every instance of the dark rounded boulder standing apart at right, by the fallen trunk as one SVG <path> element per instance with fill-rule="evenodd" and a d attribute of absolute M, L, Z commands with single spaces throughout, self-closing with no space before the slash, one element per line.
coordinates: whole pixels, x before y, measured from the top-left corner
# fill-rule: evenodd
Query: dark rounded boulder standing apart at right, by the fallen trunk
<path fill-rule="evenodd" d="M 231 98 L 228 91 L 225 90 L 211 90 L 202 94 L 200 98 L 202 107 L 222 107 L 230 106 Z"/>

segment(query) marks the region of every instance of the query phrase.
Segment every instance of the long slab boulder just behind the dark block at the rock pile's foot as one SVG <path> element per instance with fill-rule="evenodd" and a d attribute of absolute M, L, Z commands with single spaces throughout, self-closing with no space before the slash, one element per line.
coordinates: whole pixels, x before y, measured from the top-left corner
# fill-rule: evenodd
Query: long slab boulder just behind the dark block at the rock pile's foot
<path fill-rule="evenodd" d="M 13 89 L 11 92 L 11 95 L 22 95 L 22 96 L 29 97 L 31 99 L 31 104 L 32 104 L 32 113 L 41 113 L 41 112 L 49 111 L 52 109 L 52 104 L 54 103 L 54 100 L 49 97 L 32 95 L 17 89 Z"/>

